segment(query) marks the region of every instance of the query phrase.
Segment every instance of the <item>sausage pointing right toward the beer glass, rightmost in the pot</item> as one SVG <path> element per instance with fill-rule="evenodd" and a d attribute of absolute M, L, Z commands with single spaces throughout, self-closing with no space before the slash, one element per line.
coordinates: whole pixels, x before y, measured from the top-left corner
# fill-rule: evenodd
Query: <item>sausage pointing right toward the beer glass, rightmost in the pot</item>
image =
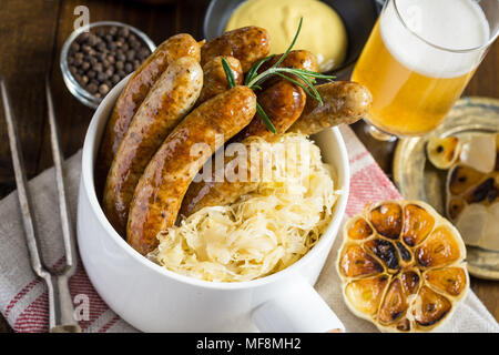
<path fill-rule="evenodd" d="M 315 134 L 342 123 L 354 123 L 369 111 L 373 102 L 369 90 L 352 81 L 328 82 L 316 89 L 324 105 L 308 97 L 302 116 L 291 126 L 289 132 Z"/>

